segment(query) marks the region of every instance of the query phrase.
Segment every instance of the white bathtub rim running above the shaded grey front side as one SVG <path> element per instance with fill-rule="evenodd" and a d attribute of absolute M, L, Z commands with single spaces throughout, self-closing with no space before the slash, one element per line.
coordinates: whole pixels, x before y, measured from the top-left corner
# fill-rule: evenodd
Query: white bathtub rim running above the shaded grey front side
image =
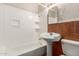
<path fill-rule="evenodd" d="M 26 49 L 22 49 L 22 50 L 19 50 L 19 51 L 10 51 L 9 53 L 6 54 L 6 56 L 19 56 L 19 55 L 22 55 L 24 53 L 28 53 L 30 51 L 39 49 L 39 48 L 44 47 L 44 46 L 47 46 L 47 44 L 40 45 L 38 43 L 38 45 L 36 44 L 34 47 L 30 47 L 28 49 L 26 48 Z"/>

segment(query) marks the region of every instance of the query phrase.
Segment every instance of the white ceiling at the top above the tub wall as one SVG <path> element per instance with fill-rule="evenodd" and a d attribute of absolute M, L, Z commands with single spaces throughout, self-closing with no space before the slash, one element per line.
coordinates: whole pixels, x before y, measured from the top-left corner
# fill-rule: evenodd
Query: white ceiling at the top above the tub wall
<path fill-rule="evenodd" d="M 34 13 L 39 13 L 54 3 L 6 3 L 17 8 L 28 10 Z"/>

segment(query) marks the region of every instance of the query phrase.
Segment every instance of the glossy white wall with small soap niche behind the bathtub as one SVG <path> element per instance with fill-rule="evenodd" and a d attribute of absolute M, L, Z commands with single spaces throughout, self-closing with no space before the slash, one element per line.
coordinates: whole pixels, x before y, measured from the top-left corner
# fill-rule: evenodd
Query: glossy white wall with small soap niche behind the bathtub
<path fill-rule="evenodd" d="M 39 46 L 38 14 L 0 4 L 0 55 L 19 55 Z"/>

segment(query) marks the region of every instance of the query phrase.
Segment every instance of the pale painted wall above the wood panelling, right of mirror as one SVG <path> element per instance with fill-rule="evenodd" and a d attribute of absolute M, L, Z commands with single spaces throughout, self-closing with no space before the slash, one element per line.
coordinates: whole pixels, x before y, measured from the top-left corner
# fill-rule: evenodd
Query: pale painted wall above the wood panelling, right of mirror
<path fill-rule="evenodd" d="M 79 3 L 63 3 L 59 4 L 58 7 L 62 11 L 60 15 L 62 18 L 59 19 L 59 22 L 68 21 L 69 19 L 72 21 L 75 18 L 79 18 Z"/>

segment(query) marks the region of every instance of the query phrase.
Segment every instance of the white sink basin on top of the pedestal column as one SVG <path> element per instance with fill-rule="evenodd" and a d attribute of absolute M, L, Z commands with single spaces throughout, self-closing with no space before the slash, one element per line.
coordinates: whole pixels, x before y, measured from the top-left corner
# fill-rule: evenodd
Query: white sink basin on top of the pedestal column
<path fill-rule="evenodd" d="M 47 42 L 55 42 L 55 41 L 59 41 L 61 38 L 61 35 L 58 33 L 43 33 L 40 35 L 41 39 L 44 39 Z"/>

